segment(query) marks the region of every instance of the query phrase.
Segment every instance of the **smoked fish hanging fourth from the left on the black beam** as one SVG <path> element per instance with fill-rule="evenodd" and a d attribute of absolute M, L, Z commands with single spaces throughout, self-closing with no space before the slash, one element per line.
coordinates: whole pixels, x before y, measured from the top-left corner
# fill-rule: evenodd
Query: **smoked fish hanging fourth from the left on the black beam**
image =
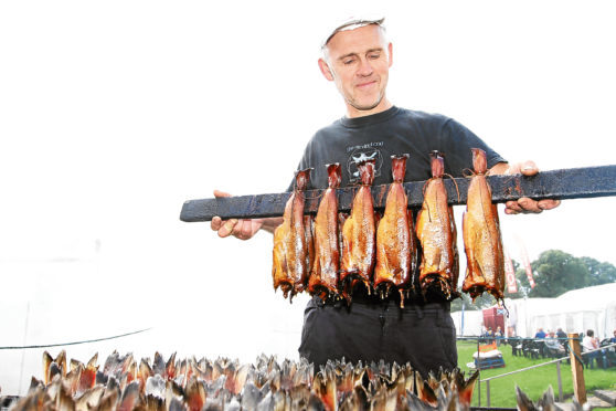
<path fill-rule="evenodd" d="M 413 230 L 413 212 L 402 182 L 406 172 L 408 155 L 392 156 L 393 182 L 385 201 L 385 212 L 376 229 L 376 265 L 374 289 L 384 298 L 392 286 L 400 292 L 400 304 L 412 287 L 416 261 L 416 241 Z"/>

